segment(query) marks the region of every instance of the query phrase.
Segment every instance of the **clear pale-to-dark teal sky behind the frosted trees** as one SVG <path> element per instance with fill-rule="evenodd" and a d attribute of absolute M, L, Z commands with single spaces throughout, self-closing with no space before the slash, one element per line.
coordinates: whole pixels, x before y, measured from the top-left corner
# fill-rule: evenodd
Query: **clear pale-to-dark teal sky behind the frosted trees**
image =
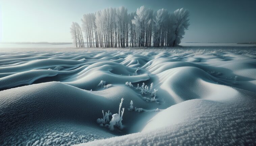
<path fill-rule="evenodd" d="M 72 21 L 106 7 L 190 11 L 182 42 L 256 41 L 256 0 L 0 0 L 0 41 L 72 42 Z"/>

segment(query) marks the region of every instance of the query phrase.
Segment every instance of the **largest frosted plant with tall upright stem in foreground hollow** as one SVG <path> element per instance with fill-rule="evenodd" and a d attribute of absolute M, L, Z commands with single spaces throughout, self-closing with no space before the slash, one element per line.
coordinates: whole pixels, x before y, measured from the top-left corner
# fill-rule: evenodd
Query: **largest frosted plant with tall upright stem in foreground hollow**
<path fill-rule="evenodd" d="M 120 113 L 120 110 L 121 110 L 121 107 L 122 107 L 122 104 L 123 104 L 123 100 L 124 100 L 124 98 L 121 99 L 118 114 L 113 114 L 112 115 L 112 119 L 109 122 L 109 126 L 108 126 L 108 128 L 110 130 L 114 130 L 114 126 L 117 126 L 119 129 L 123 129 L 122 120 L 123 120 L 123 115 L 124 115 L 124 108 L 122 109 L 122 111 Z"/>

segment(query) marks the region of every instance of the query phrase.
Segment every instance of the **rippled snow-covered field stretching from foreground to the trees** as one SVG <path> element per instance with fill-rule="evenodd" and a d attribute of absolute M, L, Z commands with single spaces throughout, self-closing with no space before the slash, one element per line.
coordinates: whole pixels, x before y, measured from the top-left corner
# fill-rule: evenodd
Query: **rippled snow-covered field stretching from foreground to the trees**
<path fill-rule="evenodd" d="M 0 145 L 256 145 L 256 46 L 181 45 L 2 46 Z"/>

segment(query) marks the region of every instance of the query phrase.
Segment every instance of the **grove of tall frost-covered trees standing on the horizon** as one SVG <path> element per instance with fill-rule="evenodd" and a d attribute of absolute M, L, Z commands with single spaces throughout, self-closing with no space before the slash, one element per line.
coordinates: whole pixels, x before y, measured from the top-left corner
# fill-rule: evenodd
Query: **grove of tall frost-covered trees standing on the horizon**
<path fill-rule="evenodd" d="M 173 47 L 188 29 L 188 16 L 184 8 L 169 13 L 142 6 L 128 13 L 122 6 L 84 14 L 82 28 L 73 22 L 70 29 L 76 47 L 84 47 L 84 39 L 87 47 Z"/>

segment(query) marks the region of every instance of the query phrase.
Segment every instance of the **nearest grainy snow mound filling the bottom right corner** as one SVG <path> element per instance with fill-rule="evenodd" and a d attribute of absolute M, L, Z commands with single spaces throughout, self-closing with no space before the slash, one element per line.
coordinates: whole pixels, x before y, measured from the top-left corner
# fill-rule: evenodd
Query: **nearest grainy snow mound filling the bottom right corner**
<path fill-rule="evenodd" d="M 250 97 L 230 103 L 188 100 L 157 114 L 140 133 L 77 146 L 254 146 L 255 104 Z"/>

